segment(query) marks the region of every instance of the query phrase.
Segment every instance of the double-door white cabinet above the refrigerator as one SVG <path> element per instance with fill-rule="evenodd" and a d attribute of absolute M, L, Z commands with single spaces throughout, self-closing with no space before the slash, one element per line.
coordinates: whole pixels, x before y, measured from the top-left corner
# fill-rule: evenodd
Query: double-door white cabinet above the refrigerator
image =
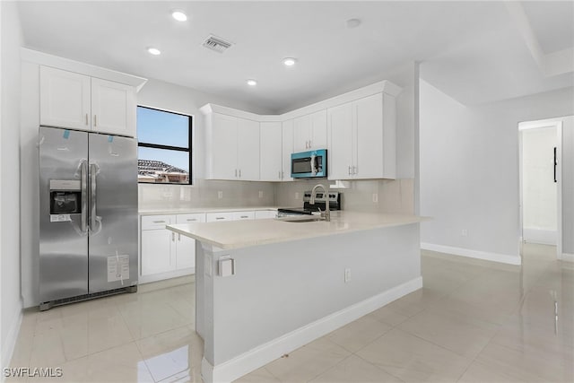
<path fill-rule="evenodd" d="M 135 88 L 40 65 L 40 125 L 135 136 Z"/>

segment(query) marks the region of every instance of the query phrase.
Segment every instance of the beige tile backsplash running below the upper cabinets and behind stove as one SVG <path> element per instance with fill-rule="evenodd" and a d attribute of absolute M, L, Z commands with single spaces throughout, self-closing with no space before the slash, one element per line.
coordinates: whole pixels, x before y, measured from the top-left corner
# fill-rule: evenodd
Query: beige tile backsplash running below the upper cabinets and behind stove
<path fill-rule="evenodd" d="M 412 178 L 340 181 L 336 185 L 335 181 L 325 179 L 283 183 L 196 179 L 194 186 L 140 184 L 139 206 L 140 209 L 302 206 L 303 192 L 317 183 L 337 187 L 343 193 L 344 210 L 405 214 L 414 211 Z"/>

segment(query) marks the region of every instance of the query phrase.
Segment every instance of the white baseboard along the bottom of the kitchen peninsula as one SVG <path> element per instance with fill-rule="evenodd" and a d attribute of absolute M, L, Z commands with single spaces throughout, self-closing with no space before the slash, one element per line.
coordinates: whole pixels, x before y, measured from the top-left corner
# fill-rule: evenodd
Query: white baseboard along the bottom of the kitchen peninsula
<path fill-rule="evenodd" d="M 291 353 L 293 350 L 305 344 L 309 344 L 309 342 L 421 288 L 422 277 L 415 278 L 386 292 L 381 292 L 374 297 L 362 300 L 348 308 L 337 311 L 325 318 L 318 319 L 315 322 L 309 323 L 307 326 L 302 326 L 271 342 L 261 344 L 255 349 L 217 366 L 213 366 L 204 358 L 201 366 L 202 378 L 205 383 L 230 382 L 239 379 L 243 375 L 257 370 L 270 361 L 274 361 L 281 355 Z"/>

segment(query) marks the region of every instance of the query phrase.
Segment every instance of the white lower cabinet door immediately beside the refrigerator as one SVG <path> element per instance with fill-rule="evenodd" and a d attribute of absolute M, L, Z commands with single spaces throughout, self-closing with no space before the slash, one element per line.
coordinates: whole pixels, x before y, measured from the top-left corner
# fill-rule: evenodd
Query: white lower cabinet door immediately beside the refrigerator
<path fill-rule="evenodd" d="M 171 256 L 175 233 L 167 229 L 142 231 L 142 275 L 175 270 Z"/>

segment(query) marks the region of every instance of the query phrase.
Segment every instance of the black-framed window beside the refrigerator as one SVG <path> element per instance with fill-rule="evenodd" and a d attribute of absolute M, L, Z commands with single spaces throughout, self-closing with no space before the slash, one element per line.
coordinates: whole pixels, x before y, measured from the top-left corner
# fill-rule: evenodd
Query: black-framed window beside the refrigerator
<path fill-rule="evenodd" d="M 191 184 L 191 116 L 137 107 L 137 181 Z"/>

